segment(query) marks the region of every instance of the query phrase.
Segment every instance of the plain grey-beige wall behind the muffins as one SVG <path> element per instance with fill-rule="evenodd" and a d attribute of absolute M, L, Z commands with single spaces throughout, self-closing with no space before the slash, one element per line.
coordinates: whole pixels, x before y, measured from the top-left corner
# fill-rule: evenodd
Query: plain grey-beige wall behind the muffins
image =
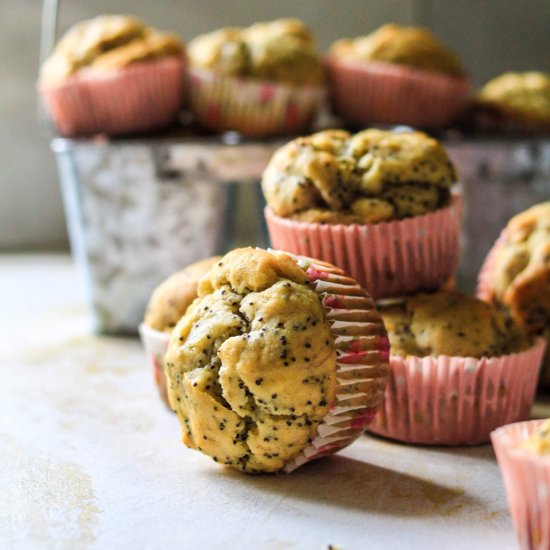
<path fill-rule="evenodd" d="M 100 13 L 133 13 L 184 39 L 296 16 L 325 49 L 394 21 L 432 28 L 476 85 L 506 70 L 550 72 L 548 0 L 64 0 L 60 31 Z M 48 136 L 35 117 L 41 2 L 0 0 L 0 250 L 67 246 Z"/>

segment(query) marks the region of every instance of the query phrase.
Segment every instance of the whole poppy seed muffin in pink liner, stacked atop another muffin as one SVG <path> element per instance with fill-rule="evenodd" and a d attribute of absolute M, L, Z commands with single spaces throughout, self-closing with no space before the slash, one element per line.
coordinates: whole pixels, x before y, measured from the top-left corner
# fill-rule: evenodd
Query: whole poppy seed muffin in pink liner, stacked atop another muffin
<path fill-rule="evenodd" d="M 295 139 L 262 178 L 272 245 L 342 267 L 377 299 L 437 289 L 458 262 L 456 180 L 443 147 L 421 132 Z"/>

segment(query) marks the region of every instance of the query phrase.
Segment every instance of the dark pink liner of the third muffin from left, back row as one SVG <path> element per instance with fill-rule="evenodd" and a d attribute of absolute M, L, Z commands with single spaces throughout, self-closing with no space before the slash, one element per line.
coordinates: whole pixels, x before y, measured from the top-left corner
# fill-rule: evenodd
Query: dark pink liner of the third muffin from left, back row
<path fill-rule="evenodd" d="M 468 104 L 470 85 L 462 77 L 335 57 L 328 58 L 327 66 L 334 110 L 355 124 L 442 128 Z"/>

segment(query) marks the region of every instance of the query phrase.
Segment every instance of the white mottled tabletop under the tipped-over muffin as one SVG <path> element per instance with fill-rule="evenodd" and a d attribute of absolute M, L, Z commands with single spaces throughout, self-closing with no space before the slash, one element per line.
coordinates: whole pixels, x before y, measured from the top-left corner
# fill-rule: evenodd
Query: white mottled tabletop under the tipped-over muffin
<path fill-rule="evenodd" d="M 182 446 L 137 340 L 89 334 L 69 258 L 0 257 L 0 300 L 2 548 L 516 548 L 488 446 L 247 477 Z"/>

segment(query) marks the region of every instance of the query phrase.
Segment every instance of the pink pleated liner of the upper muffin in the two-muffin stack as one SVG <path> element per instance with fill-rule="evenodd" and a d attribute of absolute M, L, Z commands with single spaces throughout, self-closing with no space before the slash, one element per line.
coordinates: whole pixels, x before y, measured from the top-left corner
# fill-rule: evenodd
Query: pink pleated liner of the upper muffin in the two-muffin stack
<path fill-rule="evenodd" d="M 365 225 L 298 222 L 265 209 L 273 248 L 319 258 L 349 273 L 375 299 L 441 287 L 460 251 L 462 197 L 404 220 Z"/>

